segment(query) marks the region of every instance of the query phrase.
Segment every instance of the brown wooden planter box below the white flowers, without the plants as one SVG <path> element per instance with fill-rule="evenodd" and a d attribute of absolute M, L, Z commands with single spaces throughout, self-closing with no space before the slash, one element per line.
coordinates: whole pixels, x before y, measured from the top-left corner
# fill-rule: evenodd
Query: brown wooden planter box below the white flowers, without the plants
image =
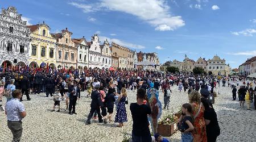
<path fill-rule="evenodd" d="M 171 136 L 177 131 L 177 121 L 171 124 L 158 124 L 158 133 L 161 136 Z"/>

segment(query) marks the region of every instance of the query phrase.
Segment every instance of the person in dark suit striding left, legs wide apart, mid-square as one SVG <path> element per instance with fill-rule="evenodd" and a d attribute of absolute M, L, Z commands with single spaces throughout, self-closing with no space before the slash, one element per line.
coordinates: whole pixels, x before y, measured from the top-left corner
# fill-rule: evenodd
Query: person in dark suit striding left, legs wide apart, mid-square
<path fill-rule="evenodd" d="M 86 120 L 86 125 L 90 124 L 90 119 L 92 119 L 94 111 L 97 111 L 98 114 L 98 122 L 102 123 L 102 116 L 101 116 L 101 110 L 100 107 L 102 106 L 101 102 L 101 94 L 100 94 L 100 85 L 94 86 L 94 91 L 92 92 L 91 98 L 92 102 L 90 103 L 90 113 L 88 115 L 88 118 Z"/>

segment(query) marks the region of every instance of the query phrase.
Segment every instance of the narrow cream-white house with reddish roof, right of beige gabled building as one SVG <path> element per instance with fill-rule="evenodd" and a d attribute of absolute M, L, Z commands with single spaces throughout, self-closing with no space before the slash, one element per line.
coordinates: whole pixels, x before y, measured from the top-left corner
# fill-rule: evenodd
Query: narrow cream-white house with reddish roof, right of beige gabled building
<path fill-rule="evenodd" d="M 88 55 L 89 55 L 89 46 L 84 38 L 81 39 L 72 39 L 77 48 L 77 68 L 84 69 L 88 67 Z"/>

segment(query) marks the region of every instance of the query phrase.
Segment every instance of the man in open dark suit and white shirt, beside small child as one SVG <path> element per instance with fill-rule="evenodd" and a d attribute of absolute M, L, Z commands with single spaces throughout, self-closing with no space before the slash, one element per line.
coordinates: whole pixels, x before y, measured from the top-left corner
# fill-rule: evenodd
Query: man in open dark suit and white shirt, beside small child
<path fill-rule="evenodd" d="M 80 87 L 79 87 L 79 81 L 74 81 L 73 85 L 68 86 L 68 92 L 70 93 L 69 95 L 69 113 L 70 115 L 72 114 L 77 114 L 76 113 L 76 101 L 77 98 L 80 99 Z M 73 110 L 72 110 L 73 108 Z"/>

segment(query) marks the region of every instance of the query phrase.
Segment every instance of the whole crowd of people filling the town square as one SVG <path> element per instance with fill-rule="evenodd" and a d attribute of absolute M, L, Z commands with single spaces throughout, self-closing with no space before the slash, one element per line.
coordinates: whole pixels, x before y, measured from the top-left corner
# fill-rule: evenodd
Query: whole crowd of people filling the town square
<path fill-rule="evenodd" d="M 198 76 L 195 74 L 161 73 L 142 70 L 38 70 L 37 72 L 5 72 L 0 73 L 0 100 L 2 95 L 7 98 L 2 106 L 6 111 L 8 127 L 13 133 L 13 140 L 19 141 L 22 135 L 22 118 L 26 116 L 23 95 L 31 101 L 30 94 L 46 93 L 46 97 L 54 100 L 53 109 L 60 111 L 60 101 L 65 100 L 66 110 L 69 115 L 77 114 L 76 103 L 81 98 L 81 91 L 87 91 L 86 97 L 92 99 L 90 112 L 86 124 L 91 124 L 91 119 L 98 119 L 99 123 L 114 122 L 117 127 L 123 127 L 127 122 L 125 105 L 128 103 L 127 89 L 137 90 L 137 102 L 130 103 L 133 118 L 132 141 L 168 141 L 154 131 L 151 136 L 148 116 L 154 115 L 152 102 L 148 93 L 152 89 L 162 91 L 164 95 L 163 109 L 169 109 L 171 86 L 177 85 L 179 91 L 184 89 L 189 94 L 189 102 L 182 106 L 182 115 L 179 119 L 181 141 L 216 141 L 220 135 L 217 115 L 214 111 L 209 95 L 214 93 L 214 88 L 220 83 L 217 76 Z M 231 80 L 231 81 L 230 81 Z M 232 87 L 233 99 L 237 80 L 222 77 L 222 84 L 228 82 Z M 238 82 L 239 83 L 239 82 Z M 250 86 L 250 87 L 249 87 Z M 252 101 L 255 99 L 253 85 L 247 84 L 238 90 L 240 106 L 245 103 L 246 92 Z M 157 93 L 158 94 L 158 93 Z M 157 98 L 158 99 L 158 98 Z M 254 101 L 255 103 L 255 101 Z M 248 108 L 249 109 L 249 108 Z M 155 117 L 156 118 L 156 117 Z M 153 118 L 154 119 L 154 118 Z M 155 125 L 152 123 L 152 125 Z M 154 130 L 153 126 L 152 130 Z"/>

